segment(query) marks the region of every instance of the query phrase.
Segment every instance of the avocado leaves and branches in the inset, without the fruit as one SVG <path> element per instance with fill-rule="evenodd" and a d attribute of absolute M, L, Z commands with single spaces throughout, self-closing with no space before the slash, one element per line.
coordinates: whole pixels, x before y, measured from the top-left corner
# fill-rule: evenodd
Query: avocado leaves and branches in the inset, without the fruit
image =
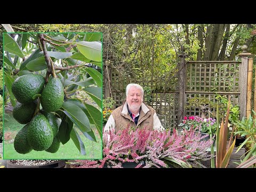
<path fill-rule="evenodd" d="M 5 102 L 10 100 L 15 106 L 12 83 L 22 75 L 41 74 L 46 84 L 52 77 L 59 78 L 65 97 L 62 107 L 53 114 L 61 119 L 60 141 L 64 145 L 71 138 L 85 155 L 84 143 L 73 125 L 87 139 L 96 142 L 90 127 L 94 124 L 102 137 L 102 74 L 98 71 L 102 69 L 102 34 L 4 33 L 4 51 L 5 94 L 8 96 Z M 77 98 L 77 91 L 87 93 L 95 105 Z M 40 97 L 41 94 L 34 95 L 39 100 Z M 40 110 L 37 105 L 34 116 Z"/>

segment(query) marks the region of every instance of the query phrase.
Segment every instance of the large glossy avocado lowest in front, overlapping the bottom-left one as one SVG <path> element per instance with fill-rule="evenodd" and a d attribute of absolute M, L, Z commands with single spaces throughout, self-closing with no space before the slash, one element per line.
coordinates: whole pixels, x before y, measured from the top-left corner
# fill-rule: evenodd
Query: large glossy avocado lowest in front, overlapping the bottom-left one
<path fill-rule="evenodd" d="M 48 149 L 52 145 L 52 127 L 44 115 L 37 114 L 29 123 L 27 139 L 29 145 L 37 151 Z"/>

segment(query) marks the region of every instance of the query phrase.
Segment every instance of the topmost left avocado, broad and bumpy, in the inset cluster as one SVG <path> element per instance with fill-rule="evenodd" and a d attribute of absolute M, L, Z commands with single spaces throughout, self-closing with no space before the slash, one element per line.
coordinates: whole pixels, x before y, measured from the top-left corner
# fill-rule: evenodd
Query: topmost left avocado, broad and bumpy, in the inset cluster
<path fill-rule="evenodd" d="M 42 92 L 44 83 L 42 75 L 22 75 L 13 82 L 12 93 L 20 103 L 33 102 L 33 96 Z"/>

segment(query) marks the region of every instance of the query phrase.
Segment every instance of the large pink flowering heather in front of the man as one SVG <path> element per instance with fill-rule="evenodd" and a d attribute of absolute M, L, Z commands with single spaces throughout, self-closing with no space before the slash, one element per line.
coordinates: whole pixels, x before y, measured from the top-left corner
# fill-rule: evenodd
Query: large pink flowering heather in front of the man
<path fill-rule="evenodd" d="M 185 130 L 183 134 L 177 135 L 176 130 L 132 130 L 127 126 L 117 133 L 110 131 L 103 133 L 103 159 L 97 161 L 76 160 L 79 168 L 122 168 L 125 162 L 145 162 L 147 167 L 169 167 L 170 159 L 175 162 L 185 162 L 192 167 L 205 167 L 200 161 L 212 158 L 206 151 L 211 146 L 211 140 L 203 140 L 206 137 L 194 129 Z"/>

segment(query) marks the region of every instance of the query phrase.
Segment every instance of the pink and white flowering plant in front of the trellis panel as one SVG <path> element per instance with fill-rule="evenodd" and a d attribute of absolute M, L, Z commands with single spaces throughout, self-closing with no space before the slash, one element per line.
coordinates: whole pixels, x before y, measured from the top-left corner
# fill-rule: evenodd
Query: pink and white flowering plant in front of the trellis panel
<path fill-rule="evenodd" d="M 200 130 L 202 133 L 210 134 L 210 124 L 211 124 L 212 134 L 216 134 L 217 123 L 216 123 L 216 119 L 213 119 L 213 118 L 185 116 L 182 123 L 179 124 L 178 126 L 186 130 L 190 130 L 190 128 L 194 128 L 194 129 Z"/>

